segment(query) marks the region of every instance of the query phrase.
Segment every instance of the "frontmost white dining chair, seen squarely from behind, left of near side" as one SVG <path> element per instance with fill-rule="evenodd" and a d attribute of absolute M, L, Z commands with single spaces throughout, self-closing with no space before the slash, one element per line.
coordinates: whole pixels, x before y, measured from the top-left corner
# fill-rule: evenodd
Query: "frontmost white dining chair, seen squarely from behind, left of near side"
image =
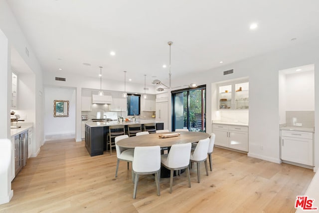
<path fill-rule="evenodd" d="M 139 175 L 155 174 L 156 188 L 160 196 L 160 146 L 135 147 L 132 168 L 135 176 L 133 199 L 136 198 Z"/>

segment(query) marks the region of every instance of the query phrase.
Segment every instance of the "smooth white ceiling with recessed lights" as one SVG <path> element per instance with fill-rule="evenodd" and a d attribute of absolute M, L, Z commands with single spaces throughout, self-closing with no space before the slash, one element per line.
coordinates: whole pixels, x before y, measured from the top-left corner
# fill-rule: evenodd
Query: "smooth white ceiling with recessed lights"
<path fill-rule="evenodd" d="M 318 0 L 7 2 L 45 72 L 99 78 L 103 66 L 103 78 L 124 79 L 126 70 L 127 79 L 141 84 L 144 74 L 147 84 L 168 78 L 168 68 L 162 68 L 168 64 L 167 41 L 173 41 L 174 78 L 319 35 Z M 258 23 L 257 29 L 249 29 L 252 22 Z"/>

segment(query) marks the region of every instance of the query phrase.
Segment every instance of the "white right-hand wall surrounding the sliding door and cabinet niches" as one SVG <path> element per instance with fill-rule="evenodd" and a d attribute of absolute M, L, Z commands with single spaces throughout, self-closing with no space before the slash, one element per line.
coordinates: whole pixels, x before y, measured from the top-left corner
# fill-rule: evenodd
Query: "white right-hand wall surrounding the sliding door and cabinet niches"
<path fill-rule="evenodd" d="M 210 109 L 216 105 L 211 99 L 215 82 L 249 77 L 249 156 L 280 163 L 279 146 L 279 70 L 305 64 L 319 66 L 319 40 L 309 43 L 294 43 L 290 48 L 255 56 L 243 61 L 206 71 L 196 72 L 172 79 L 172 84 L 195 82 L 206 84 L 207 120 L 212 120 Z M 233 74 L 223 75 L 223 71 L 234 69 Z M 173 72 L 173 70 L 172 70 Z M 315 111 L 319 112 L 319 75 L 315 71 Z M 169 98 L 170 100 L 170 98 Z M 171 104 L 169 103 L 169 107 Z M 168 110 L 171 112 L 171 109 Z M 171 115 L 169 115 L 170 117 Z M 319 113 L 315 114 L 315 156 L 319 156 Z M 211 118 L 211 119 L 209 119 Z M 211 123 L 206 123 L 211 131 Z M 317 146 L 316 146 L 317 145 Z M 263 150 L 261 149 L 263 146 Z M 315 159 L 317 168 L 319 158 Z"/>

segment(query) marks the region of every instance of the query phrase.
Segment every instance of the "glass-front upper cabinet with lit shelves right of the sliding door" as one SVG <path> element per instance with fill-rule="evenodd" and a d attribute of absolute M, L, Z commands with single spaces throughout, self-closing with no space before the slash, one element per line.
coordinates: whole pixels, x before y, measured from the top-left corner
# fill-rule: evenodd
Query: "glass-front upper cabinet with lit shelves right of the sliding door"
<path fill-rule="evenodd" d="M 248 110 L 249 82 L 236 81 L 218 85 L 217 108 L 220 110 Z"/>

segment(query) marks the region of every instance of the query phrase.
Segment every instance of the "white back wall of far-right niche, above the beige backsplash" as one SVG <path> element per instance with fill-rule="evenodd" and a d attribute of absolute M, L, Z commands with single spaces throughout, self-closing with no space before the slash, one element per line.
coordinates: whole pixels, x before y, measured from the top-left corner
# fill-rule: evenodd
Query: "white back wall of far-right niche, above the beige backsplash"
<path fill-rule="evenodd" d="M 286 75 L 286 109 L 315 110 L 314 71 Z"/>

